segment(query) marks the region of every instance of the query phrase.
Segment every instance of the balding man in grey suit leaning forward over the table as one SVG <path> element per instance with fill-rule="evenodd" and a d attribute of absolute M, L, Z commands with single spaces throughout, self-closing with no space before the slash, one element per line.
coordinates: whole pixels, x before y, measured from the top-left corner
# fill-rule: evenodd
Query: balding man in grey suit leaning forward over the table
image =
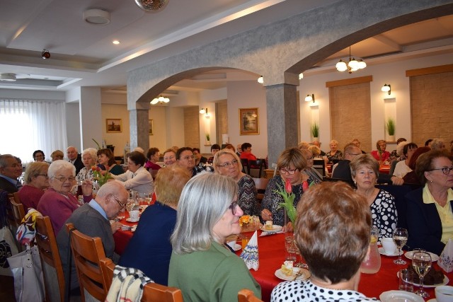
<path fill-rule="evenodd" d="M 124 209 L 129 194 L 117 180 L 110 180 L 99 189 L 95 199 L 76 209 L 66 223 L 73 223 L 74 227 L 87 236 L 99 237 L 102 240 L 105 256 L 117 262 L 119 256 L 115 254 L 113 232 L 119 228 L 119 223 L 110 226 L 109 219 L 115 219 L 118 212 Z M 65 224 L 66 224 L 65 223 Z M 69 234 L 64 226 L 57 235 L 59 255 L 62 258 L 63 269 L 67 268 Z M 67 276 L 66 272 L 64 274 Z M 71 265 L 71 289 L 79 286 L 74 261 Z"/>

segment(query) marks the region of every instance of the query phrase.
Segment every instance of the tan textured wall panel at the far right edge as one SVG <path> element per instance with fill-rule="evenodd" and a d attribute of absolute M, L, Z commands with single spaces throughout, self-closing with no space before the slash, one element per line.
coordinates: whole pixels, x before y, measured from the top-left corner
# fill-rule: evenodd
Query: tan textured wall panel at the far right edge
<path fill-rule="evenodd" d="M 411 77 L 412 141 L 453 139 L 453 72 Z"/>

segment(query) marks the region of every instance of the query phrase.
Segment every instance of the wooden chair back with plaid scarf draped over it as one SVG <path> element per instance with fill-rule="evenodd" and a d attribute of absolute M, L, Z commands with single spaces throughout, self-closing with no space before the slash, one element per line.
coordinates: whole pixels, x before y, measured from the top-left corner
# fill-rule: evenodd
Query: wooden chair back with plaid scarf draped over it
<path fill-rule="evenodd" d="M 110 289 L 113 280 L 113 269 L 115 264 L 112 260 L 105 258 L 101 260 L 101 271 L 106 286 Z M 156 283 L 149 283 L 143 288 L 142 302 L 183 302 L 183 293 L 176 287 L 164 286 Z"/>

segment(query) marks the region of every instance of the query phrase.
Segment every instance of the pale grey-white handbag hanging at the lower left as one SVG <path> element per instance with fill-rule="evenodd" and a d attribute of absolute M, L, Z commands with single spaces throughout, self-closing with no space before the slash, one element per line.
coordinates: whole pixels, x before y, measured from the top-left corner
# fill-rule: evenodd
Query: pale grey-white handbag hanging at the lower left
<path fill-rule="evenodd" d="M 37 246 L 8 257 L 17 302 L 44 301 L 44 279 Z"/>

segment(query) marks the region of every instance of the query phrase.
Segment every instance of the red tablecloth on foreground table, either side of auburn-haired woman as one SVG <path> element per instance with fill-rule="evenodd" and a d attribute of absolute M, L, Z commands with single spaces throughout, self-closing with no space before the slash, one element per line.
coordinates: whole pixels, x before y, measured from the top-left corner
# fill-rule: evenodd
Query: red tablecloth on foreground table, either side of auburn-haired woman
<path fill-rule="evenodd" d="M 258 231 L 258 236 L 260 231 Z M 258 237 L 258 254 L 260 267 L 258 271 L 251 269 L 251 274 L 256 281 L 261 285 L 261 294 L 264 301 L 270 301 L 270 293 L 282 280 L 275 277 L 275 271 L 280 269 L 285 261 L 285 236 L 277 234 L 272 236 Z M 237 252 L 241 254 L 241 250 Z M 404 256 L 402 256 L 405 258 Z M 379 295 L 384 291 L 398 289 L 398 277 L 396 272 L 403 269 L 405 265 L 395 265 L 396 257 L 381 256 L 381 269 L 377 274 L 361 274 L 359 291 L 365 296 L 379 298 Z M 411 260 L 405 259 L 408 264 Z M 436 269 L 437 264 L 434 265 Z M 449 278 L 449 285 L 453 285 L 453 272 L 446 274 Z M 428 288 L 430 298 L 434 298 L 434 289 Z M 429 298 L 427 299 L 429 300 Z"/>

